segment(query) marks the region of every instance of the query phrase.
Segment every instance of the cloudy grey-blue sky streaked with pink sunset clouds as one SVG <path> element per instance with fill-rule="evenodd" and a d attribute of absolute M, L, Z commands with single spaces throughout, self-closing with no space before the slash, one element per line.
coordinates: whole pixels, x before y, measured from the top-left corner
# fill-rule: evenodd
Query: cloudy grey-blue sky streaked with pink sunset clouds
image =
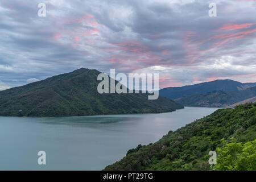
<path fill-rule="evenodd" d="M 255 17 L 255 0 L 1 0 L 0 90 L 79 68 L 256 82 Z"/>

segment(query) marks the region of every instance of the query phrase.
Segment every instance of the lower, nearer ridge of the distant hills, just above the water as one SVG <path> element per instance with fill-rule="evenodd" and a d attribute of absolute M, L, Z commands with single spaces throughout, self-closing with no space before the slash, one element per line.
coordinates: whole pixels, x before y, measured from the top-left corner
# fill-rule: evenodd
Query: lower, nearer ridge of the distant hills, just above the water
<path fill-rule="evenodd" d="M 240 91 L 226 92 L 218 90 L 203 94 L 191 94 L 177 98 L 175 101 L 184 106 L 226 107 L 255 96 L 256 86 Z"/>

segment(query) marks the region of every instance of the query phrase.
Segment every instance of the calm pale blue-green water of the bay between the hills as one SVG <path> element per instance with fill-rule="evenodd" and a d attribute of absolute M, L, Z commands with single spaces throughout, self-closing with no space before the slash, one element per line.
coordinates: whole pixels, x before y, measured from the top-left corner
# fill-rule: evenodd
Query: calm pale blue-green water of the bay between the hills
<path fill-rule="evenodd" d="M 216 108 L 89 117 L 0 117 L 0 170 L 101 170 Z M 46 151 L 46 165 L 38 151 Z"/>

